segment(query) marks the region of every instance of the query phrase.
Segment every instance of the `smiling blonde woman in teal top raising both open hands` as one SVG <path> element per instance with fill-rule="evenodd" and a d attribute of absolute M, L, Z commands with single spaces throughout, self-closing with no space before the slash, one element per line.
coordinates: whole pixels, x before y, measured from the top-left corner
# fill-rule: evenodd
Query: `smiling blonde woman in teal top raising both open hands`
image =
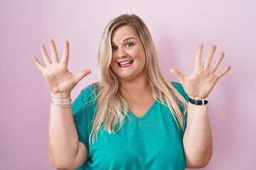
<path fill-rule="evenodd" d="M 189 77 L 161 73 L 154 43 L 136 15 L 107 24 L 100 42 L 100 81 L 87 86 L 71 106 L 70 92 L 90 74 L 68 71 L 69 45 L 58 60 L 41 46 L 46 67 L 33 57 L 51 91 L 48 154 L 56 169 L 185 169 L 210 161 L 213 141 L 207 98 L 230 66 L 215 74 L 224 53 L 210 66 L 215 46 L 201 63 L 196 53 Z"/>

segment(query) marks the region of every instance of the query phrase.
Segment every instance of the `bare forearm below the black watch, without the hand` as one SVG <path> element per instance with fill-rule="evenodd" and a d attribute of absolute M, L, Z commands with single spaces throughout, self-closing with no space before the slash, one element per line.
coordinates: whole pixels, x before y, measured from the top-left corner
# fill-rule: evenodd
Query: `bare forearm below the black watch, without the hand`
<path fill-rule="evenodd" d="M 188 103 L 187 128 L 183 148 L 188 168 L 202 168 L 213 154 L 213 138 L 210 130 L 208 104 L 196 106 Z"/>

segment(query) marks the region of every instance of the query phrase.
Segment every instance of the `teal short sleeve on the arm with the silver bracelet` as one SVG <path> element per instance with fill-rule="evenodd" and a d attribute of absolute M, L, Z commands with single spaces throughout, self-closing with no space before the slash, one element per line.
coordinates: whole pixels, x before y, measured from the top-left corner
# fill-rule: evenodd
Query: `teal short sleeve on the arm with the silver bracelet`
<path fill-rule="evenodd" d="M 89 147 L 89 125 L 92 121 L 92 115 L 94 114 L 94 109 L 87 107 L 87 105 L 89 105 L 88 103 L 92 103 L 94 99 L 93 85 L 90 85 L 81 91 L 80 95 L 78 98 L 75 98 L 71 106 L 73 109 L 75 128 L 78 131 L 78 140 L 87 147 Z"/>

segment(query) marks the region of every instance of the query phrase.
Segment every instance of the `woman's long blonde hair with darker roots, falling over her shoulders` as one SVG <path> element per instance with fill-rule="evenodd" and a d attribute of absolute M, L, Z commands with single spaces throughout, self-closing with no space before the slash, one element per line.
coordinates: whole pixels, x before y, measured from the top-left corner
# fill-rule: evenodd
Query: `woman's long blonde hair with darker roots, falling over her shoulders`
<path fill-rule="evenodd" d="M 117 75 L 110 67 L 112 60 L 111 38 L 114 30 L 120 26 L 131 26 L 139 35 L 146 52 L 145 74 L 152 89 L 152 95 L 170 108 L 178 128 L 185 129 L 185 114 L 187 103 L 178 91 L 167 81 L 159 67 L 159 62 L 149 29 L 141 18 L 134 14 L 124 14 L 114 18 L 107 24 L 100 42 L 98 64 L 100 67 L 100 81 L 98 94 L 95 98 L 97 109 L 92 121 L 90 142 L 97 140 L 97 134 L 101 127 L 109 133 L 118 132 L 124 125 L 124 118 L 128 115 L 128 104 L 119 93 L 119 81 Z M 180 106 L 184 109 L 181 111 Z M 179 129 L 180 129 L 179 128 Z"/>

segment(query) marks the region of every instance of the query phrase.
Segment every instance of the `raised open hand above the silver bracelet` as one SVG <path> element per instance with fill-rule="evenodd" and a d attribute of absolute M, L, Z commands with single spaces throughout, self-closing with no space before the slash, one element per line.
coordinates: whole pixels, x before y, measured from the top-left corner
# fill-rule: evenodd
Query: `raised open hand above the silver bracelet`
<path fill-rule="evenodd" d="M 75 85 L 87 74 L 90 74 L 90 70 L 84 70 L 76 75 L 70 73 L 68 70 L 68 41 L 65 41 L 63 57 L 60 62 L 53 40 L 50 40 L 50 52 L 52 61 L 50 61 L 50 57 L 46 52 L 46 47 L 41 45 L 41 53 L 46 67 L 43 67 L 36 57 L 33 57 L 33 62 L 35 62 L 36 66 L 43 74 L 43 77 L 46 79 L 46 84 L 52 94 L 70 94 L 70 91 L 72 91 Z"/>

